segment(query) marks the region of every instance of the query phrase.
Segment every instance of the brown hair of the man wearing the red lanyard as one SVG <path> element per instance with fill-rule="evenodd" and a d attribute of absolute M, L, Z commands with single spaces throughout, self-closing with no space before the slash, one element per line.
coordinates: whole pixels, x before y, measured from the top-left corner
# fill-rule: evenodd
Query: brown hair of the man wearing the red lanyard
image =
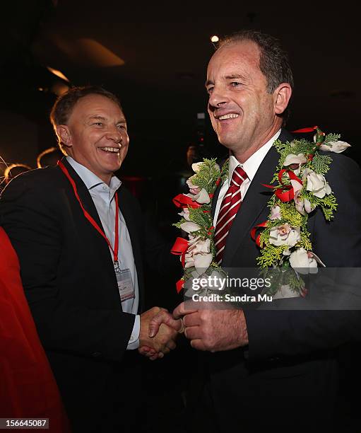
<path fill-rule="evenodd" d="M 52 122 L 55 134 L 57 134 L 57 125 L 67 125 L 69 117 L 71 116 L 71 112 L 73 111 L 73 108 L 75 107 L 78 100 L 88 95 L 105 96 L 105 98 L 112 100 L 114 103 L 119 105 L 121 110 L 123 110 L 117 96 L 115 96 L 114 93 L 105 90 L 105 88 L 100 86 L 72 87 L 69 89 L 69 91 L 63 93 L 57 98 L 52 107 L 52 111 L 50 112 L 50 122 Z M 58 144 L 63 154 L 66 154 L 64 146 L 61 143 L 59 137 Z"/>

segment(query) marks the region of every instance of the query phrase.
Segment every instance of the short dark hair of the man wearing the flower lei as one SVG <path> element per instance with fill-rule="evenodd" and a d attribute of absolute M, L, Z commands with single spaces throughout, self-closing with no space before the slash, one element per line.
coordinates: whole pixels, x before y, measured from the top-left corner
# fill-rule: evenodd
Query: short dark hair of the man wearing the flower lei
<path fill-rule="evenodd" d="M 218 43 L 217 50 L 225 45 L 244 40 L 250 40 L 259 47 L 259 69 L 266 77 L 268 93 L 273 93 L 280 83 L 289 83 L 293 90 L 293 76 L 288 52 L 284 50 L 276 37 L 257 30 L 240 30 L 223 37 Z M 288 108 L 286 108 L 283 113 L 284 120 L 288 114 Z"/>

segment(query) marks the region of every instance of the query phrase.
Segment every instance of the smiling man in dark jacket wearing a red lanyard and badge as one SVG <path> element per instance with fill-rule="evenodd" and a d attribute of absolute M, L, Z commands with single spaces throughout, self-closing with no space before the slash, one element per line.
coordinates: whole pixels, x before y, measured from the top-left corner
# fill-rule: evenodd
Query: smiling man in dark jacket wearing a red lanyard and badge
<path fill-rule="evenodd" d="M 66 157 L 6 187 L 1 226 L 73 431 L 134 431 L 141 429 L 137 349 L 167 353 L 177 334 L 165 325 L 148 337 L 160 308 L 142 313 L 142 255 L 156 265 L 169 248 L 143 226 L 138 202 L 113 175 L 129 145 L 116 96 L 71 88 L 51 120 Z"/>

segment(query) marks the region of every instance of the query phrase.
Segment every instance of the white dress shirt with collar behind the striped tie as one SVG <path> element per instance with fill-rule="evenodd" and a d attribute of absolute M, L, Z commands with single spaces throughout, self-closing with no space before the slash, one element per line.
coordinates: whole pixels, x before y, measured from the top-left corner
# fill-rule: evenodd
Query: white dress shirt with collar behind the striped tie
<path fill-rule="evenodd" d="M 261 165 L 261 162 L 264 161 L 264 157 L 268 153 L 268 151 L 271 149 L 274 142 L 276 142 L 276 139 L 280 136 L 280 129 L 276 132 L 276 134 L 273 135 L 271 139 L 266 142 L 258 151 L 254 152 L 253 155 L 249 156 L 247 161 L 245 161 L 243 164 L 241 164 L 235 156 L 230 155 L 230 166 L 228 171 L 228 178 L 223 183 L 222 187 L 220 187 L 220 193 L 218 195 L 217 204 L 215 205 L 215 214 L 213 217 L 213 226 L 217 223 L 218 214 L 220 210 L 220 204 L 222 203 L 223 197 L 225 197 L 225 193 L 228 190 L 228 187 L 230 187 L 230 181 L 232 179 L 233 171 L 235 171 L 235 168 L 238 166 L 241 166 L 243 170 L 247 174 L 247 178 L 242 182 L 240 186 L 241 190 L 241 197 L 242 201 L 244 200 L 244 197 L 248 191 L 249 185 L 251 185 L 251 181 L 253 180 L 254 176 L 256 175 L 257 170 L 259 169 L 259 166 Z"/>

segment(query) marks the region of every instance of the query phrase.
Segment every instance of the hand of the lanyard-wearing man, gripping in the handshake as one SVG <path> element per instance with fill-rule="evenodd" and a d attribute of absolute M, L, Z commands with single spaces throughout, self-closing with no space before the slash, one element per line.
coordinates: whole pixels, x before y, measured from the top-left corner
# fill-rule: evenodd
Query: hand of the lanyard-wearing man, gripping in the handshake
<path fill-rule="evenodd" d="M 159 327 L 158 333 L 154 336 L 149 336 L 149 323 L 150 321 L 158 315 L 161 311 L 167 313 L 165 308 L 153 307 L 145 313 L 141 314 L 141 330 L 139 333 L 139 352 L 142 354 L 148 354 L 150 359 L 156 359 L 157 357 L 162 357 L 161 354 L 167 354 L 170 350 L 175 349 L 175 339 L 177 337 L 177 330 L 174 330 L 171 326 L 162 323 Z M 167 313 L 169 314 L 169 313 Z M 177 323 L 178 321 L 174 321 Z M 180 323 L 180 321 L 179 321 Z M 176 326 L 177 328 L 177 326 Z M 147 350 L 144 350 L 144 348 Z M 153 356 L 151 355 L 153 354 Z M 158 354 L 154 356 L 154 354 Z M 159 356 L 160 355 L 160 356 Z"/>

